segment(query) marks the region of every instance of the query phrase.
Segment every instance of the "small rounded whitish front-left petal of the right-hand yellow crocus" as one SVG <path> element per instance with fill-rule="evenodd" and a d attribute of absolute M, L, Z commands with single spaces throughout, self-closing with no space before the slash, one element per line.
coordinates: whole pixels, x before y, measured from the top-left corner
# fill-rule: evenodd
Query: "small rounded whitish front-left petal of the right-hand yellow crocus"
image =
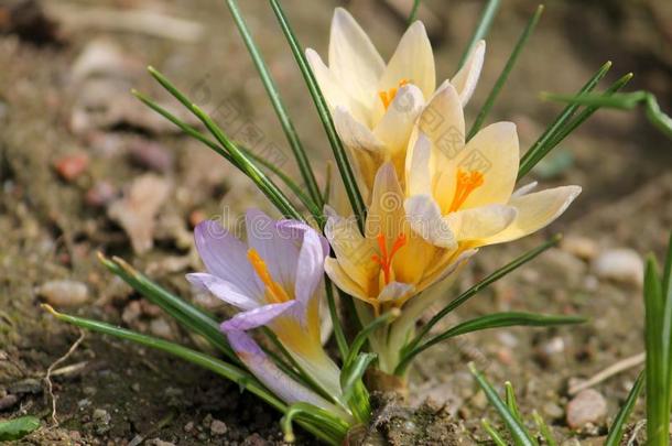
<path fill-rule="evenodd" d="M 411 229 L 427 242 L 446 249 L 457 246 L 455 235 L 430 195 L 415 195 L 404 202 Z"/>

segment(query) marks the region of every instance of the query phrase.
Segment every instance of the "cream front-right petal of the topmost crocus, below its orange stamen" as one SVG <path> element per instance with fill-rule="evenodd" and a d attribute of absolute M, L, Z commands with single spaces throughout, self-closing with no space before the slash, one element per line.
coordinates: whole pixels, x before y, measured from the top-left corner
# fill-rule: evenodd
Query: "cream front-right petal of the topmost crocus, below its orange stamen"
<path fill-rule="evenodd" d="M 422 91 L 413 84 L 404 85 L 373 129 L 373 135 L 384 143 L 392 154 L 405 150 L 409 134 L 423 106 Z"/>

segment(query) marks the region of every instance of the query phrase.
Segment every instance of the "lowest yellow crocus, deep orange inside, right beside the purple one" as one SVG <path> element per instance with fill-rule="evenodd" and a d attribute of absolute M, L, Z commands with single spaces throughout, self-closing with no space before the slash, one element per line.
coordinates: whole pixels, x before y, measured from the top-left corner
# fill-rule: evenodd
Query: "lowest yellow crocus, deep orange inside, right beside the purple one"
<path fill-rule="evenodd" d="M 474 253 L 438 247 L 416 236 L 407 220 L 403 199 L 395 170 L 386 163 L 376 175 L 364 236 L 351 218 L 328 211 L 325 235 L 336 258 L 326 259 L 325 271 L 338 287 L 371 304 L 376 313 L 401 307 Z"/>

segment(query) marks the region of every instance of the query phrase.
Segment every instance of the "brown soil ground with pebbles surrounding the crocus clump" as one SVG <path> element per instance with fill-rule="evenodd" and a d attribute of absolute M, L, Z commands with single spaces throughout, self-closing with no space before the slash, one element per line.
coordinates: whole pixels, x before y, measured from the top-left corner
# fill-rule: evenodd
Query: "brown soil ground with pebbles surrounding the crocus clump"
<path fill-rule="evenodd" d="M 3 11 L 17 3 L 0 2 L 0 22 L 11 18 Z M 241 3 L 304 144 L 324 172 L 328 144 L 273 14 L 264 1 Z M 284 3 L 302 43 L 324 54 L 333 8 L 343 4 Z M 527 0 L 505 3 L 488 37 L 484 74 L 468 109 L 472 119 L 535 8 Z M 76 9 L 64 13 L 64 4 Z M 437 73 L 445 78 L 454 72 L 481 2 L 423 4 L 433 14 L 430 32 Z M 219 311 L 184 280 L 186 272 L 200 268 L 191 243 L 193 222 L 221 215 L 223 207 L 231 222 L 248 206 L 271 210 L 224 160 L 176 133 L 130 96 L 128 90 L 134 87 L 167 101 L 142 67 L 156 66 L 206 110 L 219 113 L 236 138 L 252 139 L 259 150 L 286 160 L 290 173 L 295 170 L 224 2 L 200 1 L 198 8 L 187 0 L 96 2 L 96 8 L 142 8 L 193 21 L 203 28 L 197 43 L 72 20 L 73 11 L 94 8 L 84 0 L 45 1 L 44 7 L 50 22 L 45 25 L 46 19 L 40 17 L 40 32 L 31 33 L 25 23 L 19 31 L 0 23 L 0 401 L 18 396 L 0 406 L 0 420 L 42 417 L 43 427 L 18 442 L 25 445 L 281 444 L 280 415 L 241 394 L 237 385 L 165 355 L 95 334 L 86 334 L 56 368 L 59 373 L 52 381 L 58 424 L 53 423 L 43 379 L 79 333 L 40 308 L 40 286 L 54 280 L 84 283 L 86 302 L 64 311 L 194 345 L 198 340 L 104 270 L 96 252 L 120 255 L 185 298 Z M 383 1 L 353 0 L 347 7 L 370 30 L 381 52 L 391 54 L 404 28 L 403 17 Z M 490 119 L 514 121 L 521 146 L 529 146 L 560 110 L 538 94 L 575 91 L 607 59 L 614 62 L 608 83 L 633 72 L 628 89 L 651 90 L 670 110 L 671 24 L 672 8 L 663 0 L 551 2 Z M 82 53 L 101 39 L 120 50 L 117 55 L 110 55 L 109 46 L 104 51 L 116 63 L 77 78 Z M 78 113 L 82 104 L 88 108 Z M 662 255 L 672 228 L 670 146 L 643 113 L 596 113 L 532 175 L 544 186 L 583 186 L 579 199 L 541 233 L 481 251 L 449 294 L 559 230 L 588 247 L 588 257 L 614 248 L 633 249 L 641 258 L 651 251 Z M 149 244 L 142 235 L 131 244 L 106 206 L 148 174 L 170 193 L 165 202 L 152 203 L 159 210 Z M 476 361 L 499 389 L 511 381 L 522 412 L 529 416 L 536 409 L 559 437 L 599 444 L 639 369 L 595 387 L 607 400 L 607 418 L 579 431 L 565 422 L 567 387 L 571 380 L 642 351 L 641 286 L 598 278 L 589 259 L 570 244 L 501 280 L 449 322 L 495 309 L 582 314 L 590 320 L 571 328 L 478 333 L 429 350 L 412 376 L 411 404 L 421 409 L 411 412 L 392 402 L 394 411 L 384 412 L 389 416 L 381 422 L 379 437 L 391 444 L 488 444 L 479 421 L 497 416 L 467 371 L 466 363 Z M 422 405 L 427 398 L 432 402 Z M 640 420 L 641 403 L 632 429 Z M 404 436 L 409 428 L 419 428 L 424 436 Z M 299 443 L 314 442 L 300 435 Z"/>

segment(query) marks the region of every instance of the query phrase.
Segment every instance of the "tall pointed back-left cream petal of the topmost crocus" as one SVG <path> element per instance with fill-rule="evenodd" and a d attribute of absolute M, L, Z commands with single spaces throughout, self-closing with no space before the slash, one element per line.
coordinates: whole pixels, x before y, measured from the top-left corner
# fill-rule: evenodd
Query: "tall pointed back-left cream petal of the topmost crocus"
<path fill-rule="evenodd" d="M 361 26 L 343 8 L 336 8 L 332 20 L 329 69 L 353 96 L 370 106 L 384 62 Z"/>

